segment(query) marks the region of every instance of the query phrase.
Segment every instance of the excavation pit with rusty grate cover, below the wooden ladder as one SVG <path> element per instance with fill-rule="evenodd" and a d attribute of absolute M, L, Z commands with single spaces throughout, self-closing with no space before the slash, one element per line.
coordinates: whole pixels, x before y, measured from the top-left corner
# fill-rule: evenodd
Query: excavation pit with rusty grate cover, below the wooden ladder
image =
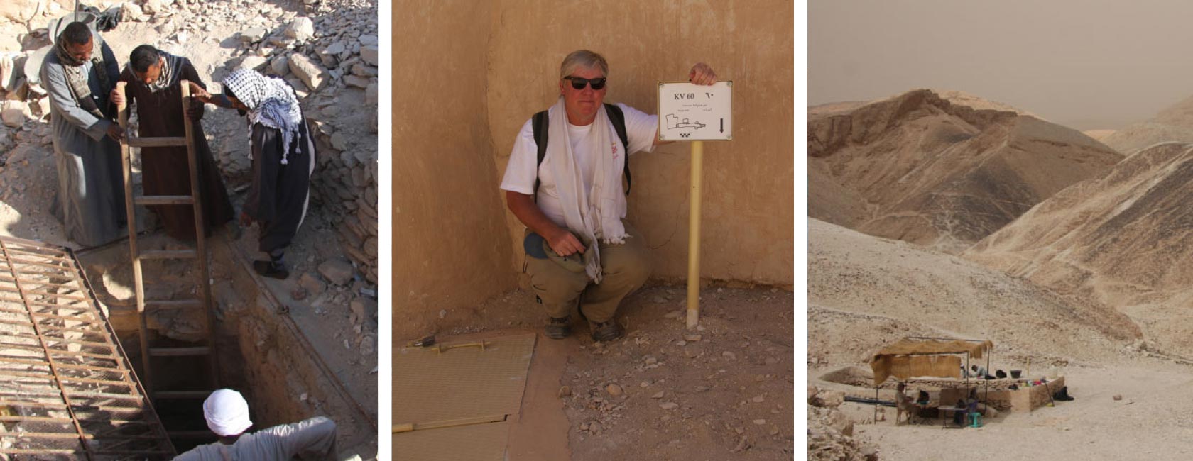
<path fill-rule="evenodd" d="M 375 456 L 376 403 L 357 400 L 336 375 L 341 370 L 327 366 L 289 317 L 272 293 L 276 287 L 256 279 L 234 245 L 218 241 L 209 247 L 220 387 L 248 399 L 251 431 L 327 416 L 338 424 L 340 457 Z M 0 238 L 0 376 L 12 376 L 0 378 L 0 454 L 13 460 L 168 460 L 215 441 L 202 410 L 210 393 L 205 360 L 153 359 L 160 388 L 194 392 L 162 397 L 137 380 L 143 370 L 135 301 L 120 299 L 124 291 L 118 288 L 126 244 L 75 257 L 64 248 Z M 185 292 L 178 280 L 186 270 L 146 270 L 146 289 L 168 285 Z M 177 337 L 196 336 L 186 318 L 150 323 L 152 335 L 171 345 L 185 347 L 187 341 Z M 148 395 L 156 397 L 153 405 Z"/>

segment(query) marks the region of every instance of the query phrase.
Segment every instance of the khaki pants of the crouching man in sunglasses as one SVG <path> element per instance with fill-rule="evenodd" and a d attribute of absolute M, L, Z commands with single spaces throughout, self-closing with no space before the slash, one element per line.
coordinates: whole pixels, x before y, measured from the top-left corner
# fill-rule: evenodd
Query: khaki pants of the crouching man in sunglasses
<path fill-rule="evenodd" d="M 650 275 L 650 254 L 642 233 L 622 222 L 630 235 L 622 244 L 600 244 L 604 278 L 600 284 L 588 274 L 564 269 L 551 260 L 526 256 L 526 273 L 534 294 L 546 306 L 546 314 L 562 318 L 571 313 L 576 301 L 589 322 L 608 322 L 628 294 L 642 287 Z M 526 231 L 530 232 L 528 230 Z"/>

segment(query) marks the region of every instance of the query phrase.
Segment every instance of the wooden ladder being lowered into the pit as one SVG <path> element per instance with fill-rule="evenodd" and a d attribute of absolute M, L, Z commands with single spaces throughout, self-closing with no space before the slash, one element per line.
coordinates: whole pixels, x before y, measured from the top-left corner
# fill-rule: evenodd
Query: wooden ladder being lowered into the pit
<path fill-rule="evenodd" d="M 208 270 L 208 257 L 206 257 L 206 243 L 204 242 L 203 235 L 203 206 L 199 198 L 199 168 L 198 157 L 194 152 L 194 133 L 191 129 L 191 117 L 186 114 L 186 107 L 188 106 L 188 100 L 191 98 L 190 82 L 183 80 L 179 82 L 183 88 L 183 117 L 186 119 L 186 136 L 185 137 L 155 137 L 155 138 L 142 138 L 134 137 L 131 132 L 128 131 L 129 124 L 129 111 L 128 111 L 128 99 L 124 99 L 124 104 L 120 104 L 117 108 L 119 110 L 120 129 L 124 130 L 125 138 L 120 142 L 120 158 L 124 163 L 124 206 L 128 210 L 129 220 L 129 253 L 132 256 L 132 281 L 136 287 L 137 297 L 137 318 L 138 328 L 137 332 L 140 335 L 141 342 L 141 361 L 143 365 L 142 381 L 144 382 L 146 391 L 153 398 L 153 400 L 175 400 L 175 399 L 205 399 L 212 391 L 215 391 L 220 382 L 220 363 L 216 354 L 216 322 L 215 311 L 211 309 L 211 276 Z M 116 83 L 117 91 L 120 95 L 124 95 L 124 82 Z M 129 154 L 130 147 L 137 148 L 157 148 L 157 147 L 186 147 L 186 157 L 190 162 L 191 173 L 191 194 L 190 195 L 142 195 L 134 197 L 132 194 L 132 167 L 131 158 Z M 136 211 L 134 205 L 191 205 L 194 211 L 194 243 L 196 248 L 185 250 L 149 250 L 141 251 L 137 248 L 137 226 L 136 226 Z M 144 278 L 141 273 L 141 261 L 142 260 L 171 260 L 171 258 L 194 258 L 198 260 L 198 298 L 197 299 L 146 299 L 144 295 Z M 199 347 L 150 347 L 149 345 L 149 334 L 148 325 L 146 322 L 147 311 L 160 311 L 160 310 L 180 310 L 180 309 L 203 309 L 206 312 L 206 329 L 208 329 L 208 343 Z M 174 357 L 169 360 L 177 360 L 178 357 L 206 357 L 209 367 L 209 385 L 208 390 L 159 390 L 155 386 L 154 374 L 153 374 L 153 361 L 154 357 Z M 171 432 L 171 436 L 183 436 L 186 437 L 188 432 Z M 208 434 L 210 436 L 210 434 Z"/>

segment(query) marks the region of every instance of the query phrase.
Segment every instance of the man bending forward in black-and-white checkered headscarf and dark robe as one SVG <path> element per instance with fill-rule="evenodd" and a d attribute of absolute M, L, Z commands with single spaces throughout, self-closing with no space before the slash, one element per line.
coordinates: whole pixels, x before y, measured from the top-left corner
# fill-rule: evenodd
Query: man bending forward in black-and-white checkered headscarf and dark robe
<path fill-rule="evenodd" d="M 298 106 L 293 87 L 285 80 L 256 70 L 237 69 L 223 80 L 224 94 L 212 96 L 191 83 L 191 94 L 203 102 L 236 108 L 249 125 L 253 183 L 240 222 L 260 224 L 259 248 L 268 261 L 253 267 L 265 276 L 286 279 L 282 256 L 298 232 L 310 203 L 310 174 L 315 170 L 315 141 Z"/>

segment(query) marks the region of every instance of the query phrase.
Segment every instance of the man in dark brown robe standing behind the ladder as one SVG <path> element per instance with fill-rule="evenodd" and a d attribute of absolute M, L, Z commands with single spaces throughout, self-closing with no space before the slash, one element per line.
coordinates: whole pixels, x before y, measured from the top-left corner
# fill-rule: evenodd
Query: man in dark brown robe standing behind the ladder
<path fill-rule="evenodd" d="M 206 88 L 191 61 L 160 51 L 152 45 L 132 50 L 119 81 L 128 82 L 128 104 L 136 101 L 138 133 L 142 137 L 179 137 L 186 131 L 180 81 Z M 119 104 L 113 92 L 113 100 Z M 203 203 L 204 235 L 233 220 L 235 216 L 211 148 L 203 135 L 203 104 L 193 101 L 191 113 L 194 152 L 198 156 L 199 194 Z M 191 173 L 185 147 L 141 148 L 141 176 L 146 195 L 190 195 Z M 194 239 L 194 212 L 190 205 L 149 206 L 161 219 L 166 233 L 181 241 Z M 234 224 L 233 224 L 234 225 Z"/>

